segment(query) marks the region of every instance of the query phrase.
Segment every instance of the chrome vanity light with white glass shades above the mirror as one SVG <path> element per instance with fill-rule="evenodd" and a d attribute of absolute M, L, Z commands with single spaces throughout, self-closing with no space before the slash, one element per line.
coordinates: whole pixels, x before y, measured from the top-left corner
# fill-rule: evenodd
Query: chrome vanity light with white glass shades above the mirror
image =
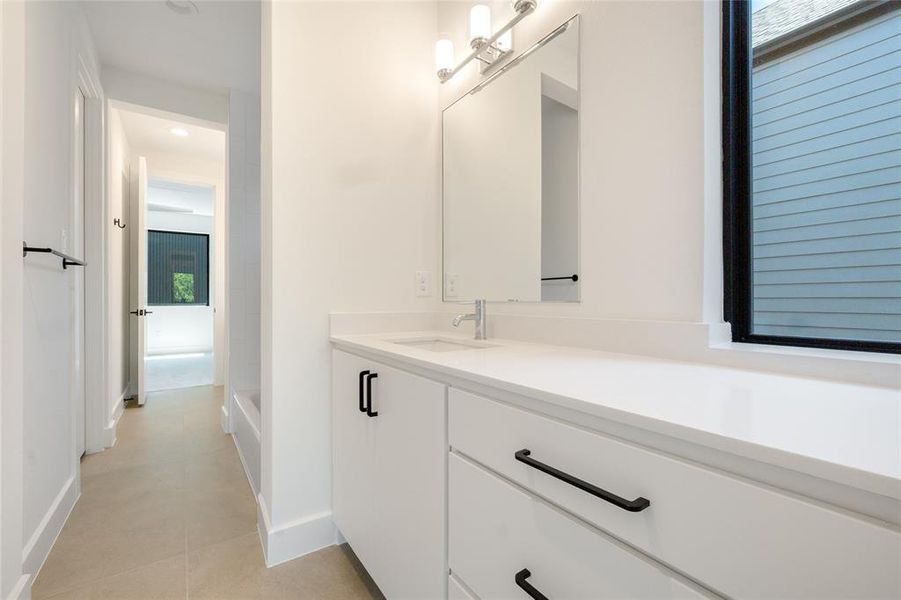
<path fill-rule="evenodd" d="M 526 18 L 538 7 L 538 0 L 513 0 L 516 14 L 503 27 L 491 33 L 491 9 L 485 4 L 476 4 L 469 12 L 469 45 L 472 52 L 457 66 L 454 63 L 454 46 L 450 40 L 441 39 L 435 44 L 435 65 L 441 83 L 460 72 L 472 60 L 478 60 L 479 72 L 485 73 L 493 65 L 513 51 L 513 26 Z"/>

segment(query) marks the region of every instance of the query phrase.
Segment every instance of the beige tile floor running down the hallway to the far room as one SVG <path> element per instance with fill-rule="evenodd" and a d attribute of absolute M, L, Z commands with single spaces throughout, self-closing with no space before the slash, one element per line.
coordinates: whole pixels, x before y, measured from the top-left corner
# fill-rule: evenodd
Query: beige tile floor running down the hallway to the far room
<path fill-rule="evenodd" d="M 222 388 L 148 394 L 117 444 L 81 463 L 81 498 L 33 598 L 381 598 L 345 546 L 271 569 Z"/>

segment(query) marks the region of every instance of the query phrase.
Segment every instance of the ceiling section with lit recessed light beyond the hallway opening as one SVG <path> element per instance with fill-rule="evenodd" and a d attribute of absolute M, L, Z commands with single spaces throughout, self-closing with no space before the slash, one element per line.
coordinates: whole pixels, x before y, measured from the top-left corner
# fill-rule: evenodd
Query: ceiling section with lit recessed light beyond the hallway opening
<path fill-rule="evenodd" d="M 225 162 L 225 132 L 130 110 L 119 110 L 125 137 L 135 154 L 176 154 L 190 159 Z M 169 130 L 180 127 L 186 137 Z"/>

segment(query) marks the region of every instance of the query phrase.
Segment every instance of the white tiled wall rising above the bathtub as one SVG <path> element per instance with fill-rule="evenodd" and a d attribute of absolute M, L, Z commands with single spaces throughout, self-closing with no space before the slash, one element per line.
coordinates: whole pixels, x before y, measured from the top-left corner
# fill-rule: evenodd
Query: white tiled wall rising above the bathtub
<path fill-rule="evenodd" d="M 260 389 L 260 99 L 232 91 L 228 109 L 228 399 Z"/>

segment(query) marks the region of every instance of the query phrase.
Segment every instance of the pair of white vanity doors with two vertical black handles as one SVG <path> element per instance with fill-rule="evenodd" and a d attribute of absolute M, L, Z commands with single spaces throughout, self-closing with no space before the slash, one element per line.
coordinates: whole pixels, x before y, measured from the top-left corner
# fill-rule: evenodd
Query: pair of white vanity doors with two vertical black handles
<path fill-rule="evenodd" d="M 388 598 L 444 598 L 443 384 L 332 353 L 333 516 Z"/>

